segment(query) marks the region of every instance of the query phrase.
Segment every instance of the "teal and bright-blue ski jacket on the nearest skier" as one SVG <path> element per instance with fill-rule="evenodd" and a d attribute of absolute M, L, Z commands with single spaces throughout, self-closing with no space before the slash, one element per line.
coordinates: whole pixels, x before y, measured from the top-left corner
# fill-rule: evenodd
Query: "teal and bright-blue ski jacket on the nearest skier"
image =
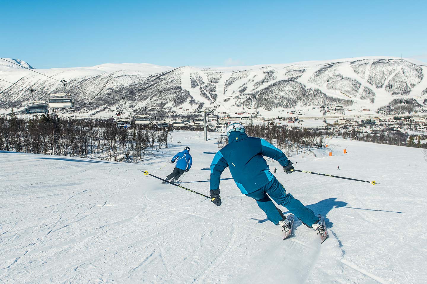
<path fill-rule="evenodd" d="M 263 156 L 275 159 L 281 166 L 288 165 L 286 155 L 264 139 L 248 137 L 243 132 L 231 132 L 228 145 L 213 157 L 210 190 L 219 189 L 221 174 L 228 166 L 234 182 L 243 194 L 265 186 L 274 176 Z"/>

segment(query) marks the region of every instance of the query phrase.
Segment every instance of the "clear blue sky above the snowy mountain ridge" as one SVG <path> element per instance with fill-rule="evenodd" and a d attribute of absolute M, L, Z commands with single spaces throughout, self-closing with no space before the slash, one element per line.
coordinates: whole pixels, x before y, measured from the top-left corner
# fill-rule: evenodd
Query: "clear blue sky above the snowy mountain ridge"
<path fill-rule="evenodd" d="M 4 1 L 0 57 L 35 68 L 427 62 L 427 1 Z"/>

